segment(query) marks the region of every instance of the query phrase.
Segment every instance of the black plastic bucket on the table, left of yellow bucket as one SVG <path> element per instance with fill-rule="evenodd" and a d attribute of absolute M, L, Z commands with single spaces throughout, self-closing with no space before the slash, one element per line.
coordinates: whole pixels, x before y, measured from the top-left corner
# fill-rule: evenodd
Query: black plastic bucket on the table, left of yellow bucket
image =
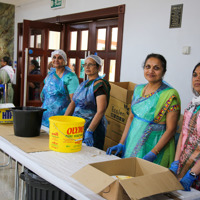
<path fill-rule="evenodd" d="M 13 112 L 14 133 L 20 137 L 36 137 L 40 135 L 43 112 L 41 107 L 15 107 Z"/>

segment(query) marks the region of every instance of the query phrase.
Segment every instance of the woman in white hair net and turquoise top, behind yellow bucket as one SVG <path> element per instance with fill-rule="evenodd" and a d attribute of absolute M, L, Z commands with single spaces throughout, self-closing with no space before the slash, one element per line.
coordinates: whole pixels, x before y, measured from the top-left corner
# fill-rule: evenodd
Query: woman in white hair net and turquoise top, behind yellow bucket
<path fill-rule="evenodd" d="M 50 70 L 45 78 L 40 95 L 42 108 L 47 109 L 42 118 L 42 125 L 46 127 L 49 127 L 49 117 L 65 114 L 73 93 L 79 85 L 76 74 L 66 66 L 67 56 L 63 50 L 53 51 L 51 58 L 54 70 Z"/>

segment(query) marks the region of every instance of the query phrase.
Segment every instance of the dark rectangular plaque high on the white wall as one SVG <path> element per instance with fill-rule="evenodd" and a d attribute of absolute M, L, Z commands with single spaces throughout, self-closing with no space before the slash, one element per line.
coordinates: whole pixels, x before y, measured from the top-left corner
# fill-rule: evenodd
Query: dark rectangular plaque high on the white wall
<path fill-rule="evenodd" d="M 181 28 L 183 4 L 171 6 L 169 28 Z"/>

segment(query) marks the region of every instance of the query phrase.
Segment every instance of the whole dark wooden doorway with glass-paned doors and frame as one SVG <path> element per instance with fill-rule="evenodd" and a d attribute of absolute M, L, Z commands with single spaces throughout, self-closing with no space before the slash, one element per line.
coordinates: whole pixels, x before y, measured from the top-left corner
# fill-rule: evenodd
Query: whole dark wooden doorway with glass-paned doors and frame
<path fill-rule="evenodd" d="M 67 53 L 68 66 L 74 70 L 80 82 L 86 78 L 82 64 L 89 54 L 97 54 L 103 59 L 100 75 L 108 81 L 119 82 L 124 12 L 125 5 L 120 5 L 37 21 L 24 20 L 18 24 L 15 105 L 42 105 L 39 94 L 48 73 L 51 52 L 58 48 Z M 25 74 L 27 48 L 27 65 L 29 67 L 31 60 L 36 60 L 39 63 L 38 74 L 31 74 L 29 68 L 29 73 Z M 32 83 L 36 88 L 33 94 L 30 88 Z M 27 87 L 24 87 L 25 84 Z"/>

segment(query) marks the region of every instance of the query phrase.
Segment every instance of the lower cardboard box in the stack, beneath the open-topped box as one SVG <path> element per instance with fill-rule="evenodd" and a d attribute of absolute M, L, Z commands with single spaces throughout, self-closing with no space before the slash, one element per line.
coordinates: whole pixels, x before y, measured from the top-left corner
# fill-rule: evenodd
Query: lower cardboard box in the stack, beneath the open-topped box
<path fill-rule="evenodd" d="M 110 138 L 114 142 L 117 142 L 118 144 L 124 131 L 125 125 L 118 123 L 109 117 L 106 117 L 106 119 L 108 121 L 106 137 Z"/>

